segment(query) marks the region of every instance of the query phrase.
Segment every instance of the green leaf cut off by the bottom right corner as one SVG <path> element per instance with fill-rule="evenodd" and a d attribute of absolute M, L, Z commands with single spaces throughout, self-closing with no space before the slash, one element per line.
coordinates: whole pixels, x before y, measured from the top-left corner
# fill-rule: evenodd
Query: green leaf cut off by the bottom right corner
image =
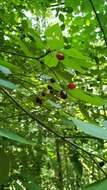
<path fill-rule="evenodd" d="M 107 178 L 99 180 L 83 188 L 82 190 L 107 190 Z"/>

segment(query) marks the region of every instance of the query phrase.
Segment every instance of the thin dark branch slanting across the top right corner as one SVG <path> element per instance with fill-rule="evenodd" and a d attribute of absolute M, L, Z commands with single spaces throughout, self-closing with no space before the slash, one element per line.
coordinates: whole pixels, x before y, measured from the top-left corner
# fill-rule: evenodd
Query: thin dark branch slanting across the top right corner
<path fill-rule="evenodd" d="M 100 29 L 101 29 L 101 31 L 103 33 L 104 41 L 105 41 L 105 44 L 107 46 L 107 38 L 106 38 L 106 35 L 105 35 L 105 32 L 104 32 L 103 26 L 101 24 L 100 18 L 99 18 L 98 14 L 97 14 L 97 11 L 96 11 L 95 7 L 94 7 L 93 1 L 92 0 L 89 0 L 89 1 L 91 3 L 91 7 L 92 7 L 92 9 L 93 9 L 93 11 L 95 13 L 95 16 L 96 16 L 97 22 L 99 24 L 99 27 L 100 27 Z"/>

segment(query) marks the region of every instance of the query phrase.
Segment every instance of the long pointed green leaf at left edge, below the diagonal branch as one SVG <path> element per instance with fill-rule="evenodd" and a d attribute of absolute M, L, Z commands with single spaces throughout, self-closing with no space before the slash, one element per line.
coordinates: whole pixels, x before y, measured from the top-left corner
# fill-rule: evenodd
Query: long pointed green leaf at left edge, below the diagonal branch
<path fill-rule="evenodd" d="M 19 142 L 19 143 L 22 143 L 22 144 L 29 144 L 29 145 L 33 145 L 32 142 L 26 140 L 25 138 L 11 132 L 10 130 L 8 129 L 4 129 L 4 128 L 1 128 L 0 129 L 0 136 L 1 137 L 5 137 L 5 138 L 8 138 L 8 139 L 11 139 L 11 140 L 14 140 L 16 142 Z"/>

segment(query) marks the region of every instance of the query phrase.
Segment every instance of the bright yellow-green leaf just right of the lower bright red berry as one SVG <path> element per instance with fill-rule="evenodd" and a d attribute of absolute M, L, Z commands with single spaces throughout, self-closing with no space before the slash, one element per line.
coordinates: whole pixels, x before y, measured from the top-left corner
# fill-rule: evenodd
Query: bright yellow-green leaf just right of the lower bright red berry
<path fill-rule="evenodd" d="M 78 100 L 87 102 L 92 105 L 103 106 L 107 104 L 107 101 L 102 99 L 100 96 L 89 94 L 87 92 L 80 90 L 79 88 L 70 90 L 69 94 Z"/>

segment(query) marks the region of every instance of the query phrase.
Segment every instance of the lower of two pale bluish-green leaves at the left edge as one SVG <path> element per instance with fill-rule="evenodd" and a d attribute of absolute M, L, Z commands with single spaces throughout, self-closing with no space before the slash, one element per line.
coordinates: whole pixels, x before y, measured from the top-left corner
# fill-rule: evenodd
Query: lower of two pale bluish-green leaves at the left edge
<path fill-rule="evenodd" d="M 0 86 L 6 87 L 6 88 L 9 88 L 9 89 L 16 89 L 15 84 L 13 84 L 10 81 L 3 80 L 3 79 L 0 79 Z"/>

